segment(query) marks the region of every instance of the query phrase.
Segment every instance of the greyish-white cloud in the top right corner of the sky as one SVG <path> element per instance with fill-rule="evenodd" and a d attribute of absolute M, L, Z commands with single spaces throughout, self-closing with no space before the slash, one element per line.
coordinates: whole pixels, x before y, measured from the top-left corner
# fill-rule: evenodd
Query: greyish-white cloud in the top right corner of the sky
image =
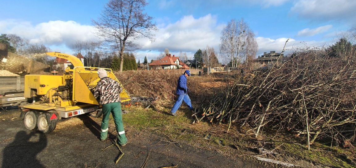
<path fill-rule="evenodd" d="M 355 9 L 355 0 L 299 0 L 290 11 L 301 18 L 347 21 L 355 25 L 352 23 Z"/>

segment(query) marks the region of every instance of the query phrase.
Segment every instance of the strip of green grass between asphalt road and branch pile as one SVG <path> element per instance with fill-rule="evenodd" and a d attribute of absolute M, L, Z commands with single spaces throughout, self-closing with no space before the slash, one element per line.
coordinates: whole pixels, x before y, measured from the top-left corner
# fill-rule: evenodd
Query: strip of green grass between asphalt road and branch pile
<path fill-rule="evenodd" d="M 123 107 L 122 110 L 126 110 L 128 113 L 122 114 L 122 118 L 125 129 L 157 133 L 166 141 L 179 142 L 180 144 L 187 143 L 202 149 L 222 149 L 221 151 L 234 156 L 243 155 L 247 151 L 246 147 L 258 147 L 256 141 L 263 141 L 254 139 L 253 135 L 237 133 L 236 129 L 230 129 L 229 133 L 226 133 L 227 125 L 224 124 L 212 125 L 209 122 L 192 124 L 193 119 L 190 118 L 190 112 L 185 110 L 185 108 L 182 109 L 179 110 L 178 116 L 174 117 L 168 114 L 167 111 L 169 109 L 157 112 L 151 108 L 145 109 L 140 106 Z M 110 122 L 113 122 L 112 118 Z M 315 142 L 311 146 L 311 150 L 307 150 L 305 144 L 298 145 L 280 142 L 294 141 L 295 139 L 291 137 L 274 137 L 274 139 L 280 139 L 280 141 L 275 142 L 271 139 L 266 139 L 269 144 L 273 144 L 269 147 L 269 150 L 277 148 L 274 151 L 278 151 L 283 155 L 296 156 L 306 161 L 323 164 L 324 166 L 354 167 L 352 164 L 352 159 L 354 159 L 352 156 L 354 154 L 350 150 L 344 150 L 340 147 L 330 147 L 318 142 Z"/>

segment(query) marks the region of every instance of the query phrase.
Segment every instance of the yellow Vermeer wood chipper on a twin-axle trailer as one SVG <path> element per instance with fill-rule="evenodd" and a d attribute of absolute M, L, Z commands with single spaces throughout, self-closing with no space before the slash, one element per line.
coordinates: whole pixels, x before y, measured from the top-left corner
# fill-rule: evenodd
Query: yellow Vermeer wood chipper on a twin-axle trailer
<path fill-rule="evenodd" d="M 74 67 L 67 67 L 63 75 L 25 75 L 24 96 L 32 102 L 21 106 L 25 127 L 48 133 L 56 128 L 58 121 L 69 117 L 85 113 L 100 117 L 101 106 L 93 95 L 96 83 L 100 80 L 97 74 L 99 68 L 84 67 L 79 58 L 73 55 L 59 52 L 46 54 L 69 60 Z M 101 69 L 107 71 L 108 77 L 119 82 L 111 69 Z M 120 98 L 121 102 L 130 101 L 125 89 Z"/>

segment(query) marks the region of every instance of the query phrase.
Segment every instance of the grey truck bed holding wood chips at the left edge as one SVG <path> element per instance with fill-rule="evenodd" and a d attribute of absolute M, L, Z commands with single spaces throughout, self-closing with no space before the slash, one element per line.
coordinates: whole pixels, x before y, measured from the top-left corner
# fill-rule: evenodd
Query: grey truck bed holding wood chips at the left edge
<path fill-rule="evenodd" d="M 17 106 L 27 99 L 23 96 L 25 78 L 6 70 L 0 70 L 0 108 Z"/>

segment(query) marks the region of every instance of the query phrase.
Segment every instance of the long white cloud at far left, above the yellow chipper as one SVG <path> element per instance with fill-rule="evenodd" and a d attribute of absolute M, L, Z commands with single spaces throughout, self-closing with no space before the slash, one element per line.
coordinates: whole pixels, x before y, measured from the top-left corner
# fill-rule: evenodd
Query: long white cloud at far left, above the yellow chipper
<path fill-rule="evenodd" d="M 4 20 L 0 21 L 0 32 L 16 34 L 30 40 L 30 43 L 67 46 L 76 41 L 95 41 L 95 28 L 81 25 L 75 21 L 49 21 L 32 25 L 30 22 Z"/>

